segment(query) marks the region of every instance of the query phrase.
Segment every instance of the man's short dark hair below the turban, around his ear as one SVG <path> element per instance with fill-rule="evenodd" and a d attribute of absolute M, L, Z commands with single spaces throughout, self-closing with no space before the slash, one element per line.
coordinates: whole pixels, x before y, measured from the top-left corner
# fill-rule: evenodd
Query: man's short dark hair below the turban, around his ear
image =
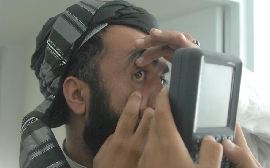
<path fill-rule="evenodd" d="M 90 91 L 100 85 L 99 80 L 99 61 L 106 54 L 104 43 L 102 41 L 102 34 L 106 28 L 93 35 L 87 42 L 85 42 L 80 49 L 69 60 L 67 67 L 61 75 L 59 84 L 61 86 L 58 94 L 55 96 L 50 110 L 51 127 L 59 127 L 63 124 L 69 123 L 70 108 L 66 103 L 63 94 L 63 83 L 69 76 L 77 77 L 79 80 L 88 83 Z M 56 116 L 55 116 L 56 114 Z"/>

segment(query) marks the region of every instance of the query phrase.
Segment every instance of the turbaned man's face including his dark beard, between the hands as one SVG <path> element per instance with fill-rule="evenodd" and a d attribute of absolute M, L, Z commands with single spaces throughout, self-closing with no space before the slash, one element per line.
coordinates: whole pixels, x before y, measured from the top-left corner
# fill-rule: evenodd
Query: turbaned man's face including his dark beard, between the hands
<path fill-rule="evenodd" d="M 134 91 L 142 94 L 140 118 L 146 107 L 155 108 L 156 96 L 163 88 L 168 67 L 163 58 L 145 67 L 137 67 L 135 60 L 143 51 L 134 47 L 136 39 L 145 34 L 126 26 L 113 25 L 102 36 L 107 50 L 99 64 L 101 84 L 90 84 L 89 120 L 83 138 L 93 157 L 107 137 L 114 133 L 128 97 Z M 139 120 L 138 120 L 139 122 Z"/>

